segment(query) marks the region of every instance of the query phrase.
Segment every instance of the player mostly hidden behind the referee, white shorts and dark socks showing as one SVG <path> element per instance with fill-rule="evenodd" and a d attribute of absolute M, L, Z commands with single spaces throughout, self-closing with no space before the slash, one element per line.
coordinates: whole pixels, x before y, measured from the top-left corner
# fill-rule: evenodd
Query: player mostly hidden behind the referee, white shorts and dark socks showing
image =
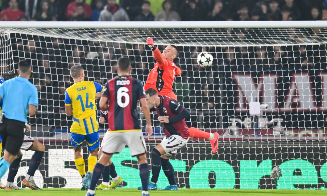
<path fill-rule="evenodd" d="M 7 74 L 3 74 L 3 77 L 0 76 L 0 78 L 2 78 L 4 81 L 9 80 L 14 77 L 17 77 L 16 73 L 7 73 Z M 2 82 L 2 80 L 0 80 L 0 82 Z M 0 83 L 0 85 L 2 83 Z M 0 107 L 1 106 L 2 106 L 2 101 L 0 101 Z M 1 110 L 0 110 L 0 113 L 1 113 Z M 26 132 L 30 131 L 30 128 L 31 128 L 30 125 L 27 124 Z M 35 184 L 33 177 L 34 177 L 35 171 L 38 169 L 38 167 L 41 163 L 41 160 L 43 158 L 45 146 L 38 140 L 25 135 L 23 144 L 20 149 L 26 150 L 26 151 L 28 151 L 28 150 L 35 151 L 35 153 L 32 155 L 31 164 L 29 165 L 27 175 L 26 175 L 25 179 L 22 181 L 23 188 L 28 187 L 33 190 L 41 190 L 41 188 L 39 188 Z M 21 189 L 21 188 L 17 187 L 17 185 L 14 184 L 14 179 L 15 179 L 15 176 L 17 175 L 18 168 L 19 168 L 19 165 L 20 165 L 20 163 L 22 161 L 22 157 L 23 157 L 22 152 L 20 151 L 19 153 L 20 153 L 20 156 L 18 158 L 16 158 L 9 167 L 7 185 L 6 186 L 3 185 L 3 187 L 1 187 L 1 188 L 5 188 L 7 190 L 8 189 L 9 190 L 10 189 Z"/>

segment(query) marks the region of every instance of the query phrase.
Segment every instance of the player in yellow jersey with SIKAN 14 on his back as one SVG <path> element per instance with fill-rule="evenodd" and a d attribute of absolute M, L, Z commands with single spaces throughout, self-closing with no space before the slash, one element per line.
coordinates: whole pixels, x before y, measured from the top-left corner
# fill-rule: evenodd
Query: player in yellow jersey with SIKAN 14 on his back
<path fill-rule="evenodd" d="M 95 116 L 95 97 L 96 93 L 103 92 L 104 86 L 96 82 L 84 81 L 85 74 L 81 66 L 72 67 L 70 75 L 75 84 L 66 89 L 65 108 L 67 116 L 73 115 L 73 124 L 70 128 L 71 143 L 74 148 L 75 164 L 83 181 L 81 190 L 87 190 L 100 146 L 99 127 Z M 87 173 L 81 153 L 84 140 L 90 152 Z"/>

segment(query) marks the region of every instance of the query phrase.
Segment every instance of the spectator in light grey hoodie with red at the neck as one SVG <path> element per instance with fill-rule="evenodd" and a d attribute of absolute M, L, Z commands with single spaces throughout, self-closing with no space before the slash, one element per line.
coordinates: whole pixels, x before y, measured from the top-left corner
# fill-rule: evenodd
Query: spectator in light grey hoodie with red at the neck
<path fill-rule="evenodd" d="M 108 0 L 108 4 L 100 13 L 99 21 L 129 21 L 129 17 L 116 0 Z"/>

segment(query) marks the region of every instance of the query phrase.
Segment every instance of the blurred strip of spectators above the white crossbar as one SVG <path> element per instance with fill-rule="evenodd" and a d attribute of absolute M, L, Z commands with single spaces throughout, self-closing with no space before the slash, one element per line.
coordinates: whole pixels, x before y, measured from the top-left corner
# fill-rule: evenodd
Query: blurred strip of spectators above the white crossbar
<path fill-rule="evenodd" d="M 327 20 L 327 0 L 2 0 L 0 21 Z"/>

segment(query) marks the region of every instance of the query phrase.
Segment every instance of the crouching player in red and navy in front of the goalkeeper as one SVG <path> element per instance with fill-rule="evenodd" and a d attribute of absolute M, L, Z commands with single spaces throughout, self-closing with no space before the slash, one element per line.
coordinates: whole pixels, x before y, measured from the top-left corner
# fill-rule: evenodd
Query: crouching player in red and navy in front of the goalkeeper
<path fill-rule="evenodd" d="M 174 168 L 169 159 L 172 154 L 176 154 L 178 149 L 185 146 L 189 139 L 189 130 L 185 118 L 190 116 L 190 112 L 176 100 L 158 95 L 157 91 L 152 88 L 146 90 L 145 93 L 146 102 L 150 108 L 154 107 L 156 109 L 159 116 L 158 120 L 163 124 L 164 134 L 166 135 L 162 142 L 151 151 L 152 178 L 148 184 L 148 189 L 158 189 L 157 182 L 162 168 L 168 178 L 169 186 L 159 190 L 178 190 Z"/>

